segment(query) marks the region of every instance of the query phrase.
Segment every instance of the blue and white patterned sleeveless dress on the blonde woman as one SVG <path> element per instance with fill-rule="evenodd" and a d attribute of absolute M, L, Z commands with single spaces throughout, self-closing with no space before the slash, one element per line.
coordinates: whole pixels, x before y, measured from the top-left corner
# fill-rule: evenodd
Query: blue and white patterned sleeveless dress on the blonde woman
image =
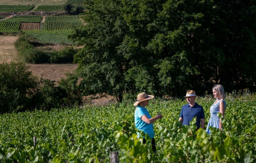
<path fill-rule="evenodd" d="M 216 99 L 216 101 L 217 101 L 217 99 Z M 224 102 L 224 104 L 225 104 L 224 110 L 226 110 L 226 101 L 225 100 L 221 99 L 215 105 L 214 105 L 215 102 L 213 103 L 213 105 L 210 107 L 211 117 L 209 119 L 209 122 L 208 122 L 207 128 L 206 128 L 206 133 L 207 134 L 211 133 L 211 130 L 209 130 L 210 126 L 216 127 L 217 129 L 219 129 L 219 120 L 220 119 L 219 119 L 217 113 L 219 113 L 219 102 L 221 102 L 221 101 Z"/>

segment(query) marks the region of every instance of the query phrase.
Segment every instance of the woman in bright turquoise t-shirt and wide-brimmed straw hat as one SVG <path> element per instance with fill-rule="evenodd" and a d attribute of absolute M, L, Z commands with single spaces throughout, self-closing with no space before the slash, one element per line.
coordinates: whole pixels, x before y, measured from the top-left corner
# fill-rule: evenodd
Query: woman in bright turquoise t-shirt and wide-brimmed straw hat
<path fill-rule="evenodd" d="M 157 116 L 153 118 L 151 118 L 151 116 L 149 115 L 148 110 L 145 108 L 145 106 L 148 105 L 149 99 L 152 98 L 154 98 L 153 95 L 147 95 L 145 92 L 137 95 L 138 100 L 133 104 L 134 106 L 137 106 L 134 113 L 134 119 L 135 127 L 139 131 L 144 131 L 144 133 L 148 134 L 150 138 L 152 138 L 152 150 L 156 152 L 153 123 L 157 119 L 163 118 L 163 115 L 161 115 L 159 112 Z M 143 138 L 143 143 L 146 143 L 145 138 Z"/>

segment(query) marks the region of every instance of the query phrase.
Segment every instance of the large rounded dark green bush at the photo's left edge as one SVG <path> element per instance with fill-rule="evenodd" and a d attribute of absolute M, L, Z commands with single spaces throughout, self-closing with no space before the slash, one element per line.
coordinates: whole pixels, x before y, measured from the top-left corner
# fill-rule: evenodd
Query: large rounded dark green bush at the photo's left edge
<path fill-rule="evenodd" d="M 38 92 L 38 84 L 28 66 L 20 62 L 0 64 L 1 114 L 34 108 L 31 101 Z"/>

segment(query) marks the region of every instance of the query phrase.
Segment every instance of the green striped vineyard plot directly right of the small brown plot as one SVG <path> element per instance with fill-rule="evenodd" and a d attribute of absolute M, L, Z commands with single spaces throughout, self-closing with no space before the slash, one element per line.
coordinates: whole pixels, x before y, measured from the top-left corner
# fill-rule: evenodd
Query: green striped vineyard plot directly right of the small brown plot
<path fill-rule="evenodd" d="M 44 30 L 70 30 L 82 25 L 78 16 L 47 16 Z"/>

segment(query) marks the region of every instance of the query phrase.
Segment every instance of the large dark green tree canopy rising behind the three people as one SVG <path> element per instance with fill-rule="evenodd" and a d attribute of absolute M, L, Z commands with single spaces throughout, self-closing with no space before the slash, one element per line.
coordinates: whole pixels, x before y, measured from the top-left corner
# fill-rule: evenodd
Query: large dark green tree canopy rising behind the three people
<path fill-rule="evenodd" d="M 256 1 L 86 0 L 72 40 L 84 95 L 255 91 Z"/>

